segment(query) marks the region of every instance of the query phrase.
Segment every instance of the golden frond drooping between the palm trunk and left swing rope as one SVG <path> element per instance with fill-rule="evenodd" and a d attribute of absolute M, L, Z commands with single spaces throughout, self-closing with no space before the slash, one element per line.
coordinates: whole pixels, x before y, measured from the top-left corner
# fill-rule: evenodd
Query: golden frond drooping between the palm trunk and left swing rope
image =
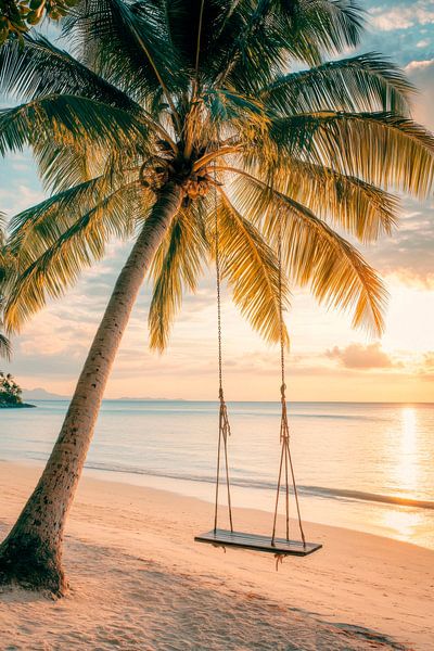
<path fill-rule="evenodd" d="M 167 346 L 182 293 L 196 290 L 207 254 L 201 213 L 200 206 L 181 208 L 152 263 L 154 288 L 149 311 L 150 346 L 161 353 Z"/>

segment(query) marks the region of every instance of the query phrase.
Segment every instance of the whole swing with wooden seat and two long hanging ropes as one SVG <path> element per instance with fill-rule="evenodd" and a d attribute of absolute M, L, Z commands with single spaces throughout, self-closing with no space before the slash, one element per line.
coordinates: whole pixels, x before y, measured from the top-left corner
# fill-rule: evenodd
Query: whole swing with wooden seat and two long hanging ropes
<path fill-rule="evenodd" d="M 217 192 L 215 190 L 215 192 Z M 228 418 L 228 409 L 225 403 L 224 386 L 222 386 L 222 353 L 221 353 L 221 298 L 220 298 L 220 260 L 219 260 L 219 242 L 218 242 L 218 224 L 217 224 L 217 201 L 216 201 L 216 277 L 217 277 L 217 327 L 218 327 L 218 379 L 219 379 L 219 429 L 218 429 L 218 447 L 217 447 L 217 476 L 216 476 L 216 494 L 214 509 L 214 528 L 207 533 L 194 537 L 196 542 L 206 542 L 214 547 L 238 547 L 241 549 L 251 549 L 254 551 L 263 551 L 273 553 L 277 562 L 282 561 L 285 556 L 305 557 L 321 549 L 322 545 L 317 542 L 306 541 L 302 515 L 298 502 L 297 486 L 295 483 L 294 468 L 290 450 L 290 429 L 288 422 L 286 409 L 286 385 L 285 385 L 285 366 L 284 366 L 284 336 L 283 336 L 283 308 L 282 308 L 282 217 L 279 214 L 279 239 L 278 239 L 278 260 L 279 260 L 279 317 L 280 317 L 280 359 L 281 359 L 281 422 L 280 422 L 280 465 L 279 478 L 276 493 L 275 516 L 271 536 L 258 534 L 250 534 L 237 532 L 233 529 L 232 521 L 232 502 L 230 493 L 229 480 L 229 462 L 228 462 L 228 436 L 230 436 L 230 424 Z M 226 470 L 226 487 L 228 499 L 228 515 L 230 529 L 218 527 L 218 497 L 220 486 L 220 461 L 221 456 L 225 460 Z M 290 538 L 290 474 L 295 498 L 298 528 L 301 540 L 292 540 Z M 277 516 L 279 510 L 279 497 L 281 493 L 282 478 L 284 476 L 284 495 L 285 495 L 285 537 L 278 538 L 276 536 Z"/>

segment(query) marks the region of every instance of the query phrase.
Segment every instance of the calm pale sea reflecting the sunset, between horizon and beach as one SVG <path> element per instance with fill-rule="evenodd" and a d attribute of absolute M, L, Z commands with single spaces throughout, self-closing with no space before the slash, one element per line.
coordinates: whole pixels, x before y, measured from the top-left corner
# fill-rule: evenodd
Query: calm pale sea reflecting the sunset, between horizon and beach
<path fill-rule="evenodd" d="M 67 403 L 35 404 L 0 411 L 0 459 L 47 459 Z M 234 505 L 271 511 L 280 405 L 229 414 Z M 290 419 L 306 521 L 434 549 L 433 404 L 293 403 Z M 87 473 L 212 501 L 217 421 L 216 403 L 105 400 Z"/>

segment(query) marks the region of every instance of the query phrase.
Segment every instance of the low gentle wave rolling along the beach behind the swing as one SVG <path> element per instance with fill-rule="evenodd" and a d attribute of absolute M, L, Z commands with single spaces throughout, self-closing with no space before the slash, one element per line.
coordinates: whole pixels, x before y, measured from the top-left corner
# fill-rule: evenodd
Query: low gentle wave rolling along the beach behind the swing
<path fill-rule="evenodd" d="M 142 470 L 139 468 L 128 468 L 120 465 L 107 467 L 104 463 L 86 463 L 86 468 L 90 470 L 103 470 L 106 472 L 118 472 L 138 475 L 149 475 L 169 480 L 181 480 L 187 482 L 199 482 L 204 484 L 214 484 L 215 477 L 207 475 L 188 475 L 181 473 L 169 473 L 157 470 Z M 261 490 L 276 490 L 276 484 L 271 482 L 252 482 L 242 478 L 235 478 L 231 481 L 233 486 L 241 488 L 255 488 Z M 384 505 L 396 505 L 400 507 L 409 507 L 417 509 L 431 509 L 434 510 L 434 501 L 421 500 L 401 497 L 398 495 L 381 495 L 378 493 L 368 493 L 366 490 L 353 490 L 345 488 L 326 488 L 323 486 L 297 486 L 297 490 L 304 495 L 311 495 L 315 497 L 323 497 L 329 499 L 349 499 L 357 501 L 368 502 L 380 502 Z"/>

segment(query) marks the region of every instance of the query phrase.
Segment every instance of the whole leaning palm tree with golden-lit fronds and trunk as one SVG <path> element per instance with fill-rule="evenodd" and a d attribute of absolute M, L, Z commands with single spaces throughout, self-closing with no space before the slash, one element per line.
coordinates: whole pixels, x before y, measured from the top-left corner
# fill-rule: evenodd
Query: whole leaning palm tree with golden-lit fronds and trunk
<path fill-rule="evenodd" d="M 85 0 L 63 33 L 0 52 L 0 151 L 29 145 L 52 195 L 12 221 L 5 319 L 61 296 L 113 238 L 133 242 L 43 474 L 0 547 L 0 583 L 61 595 L 65 520 L 123 332 L 146 275 L 153 348 L 215 257 L 242 314 L 279 337 L 280 228 L 290 284 L 383 328 L 385 290 L 343 239 L 390 233 L 403 190 L 432 183 L 434 140 L 412 87 L 359 42 L 353 0 Z M 304 68 L 306 69 L 302 69 Z M 291 72 L 292 71 L 292 72 Z M 281 225 L 281 227 L 280 227 Z"/>

